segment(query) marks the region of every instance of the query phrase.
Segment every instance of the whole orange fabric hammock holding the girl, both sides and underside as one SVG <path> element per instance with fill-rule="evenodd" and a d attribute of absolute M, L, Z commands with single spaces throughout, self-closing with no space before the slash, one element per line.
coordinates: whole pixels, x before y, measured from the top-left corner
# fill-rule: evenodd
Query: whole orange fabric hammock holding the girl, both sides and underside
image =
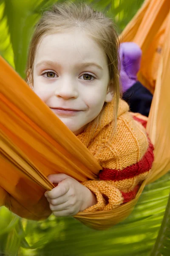
<path fill-rule="evenodd" d="M 74 216 L 89 227 L 106 229 L 125 219 L 144 186 L 170 169 L 169 10 L 169 0 L 147 0 L 122 33 L 123 41 L 136 42 L 144 52 L 139 78 L 144 77 L 142 81 L 150 87 L 152 79 L 156 84 L 147 123 L 155 146 L 153 169 L 134 200 L 111 211 L 79 212 Z M 144 69 L 148 47 L 157 49 L 160 41 L 163 47 L 159 62 Z M 157 52 L 153 52 L 152 59 L 157 58 Z M 49 174 L 57 170 L 84 181 L 94 179 L 100 169 L 85 145 L 0 57 L 0 206 L 23 218 L 47 218 L 51 210 L 44 192 L 54 187 L 46 178 Z"/>

